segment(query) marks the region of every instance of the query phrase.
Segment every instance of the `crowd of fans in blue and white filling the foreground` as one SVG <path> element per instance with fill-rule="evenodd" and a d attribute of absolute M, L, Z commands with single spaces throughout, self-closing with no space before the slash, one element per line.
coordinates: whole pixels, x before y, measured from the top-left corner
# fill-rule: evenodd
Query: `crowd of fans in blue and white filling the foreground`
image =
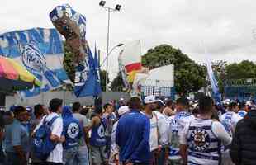
<path fill-rule="evenodd" d="M 0 111 L 0 165 L 254 165 L 254 101 L 131 97 Z M 255 146 L 255 147 L 254 147 Z"/>

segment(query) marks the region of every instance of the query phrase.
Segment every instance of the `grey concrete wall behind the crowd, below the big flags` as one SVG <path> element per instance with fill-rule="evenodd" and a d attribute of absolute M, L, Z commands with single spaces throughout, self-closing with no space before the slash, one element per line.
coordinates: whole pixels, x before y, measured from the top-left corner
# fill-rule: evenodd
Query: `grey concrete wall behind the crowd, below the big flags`
<path fill-rule="evenodd" d="M 108 101 L 119 100 L 121 97 L 129 100 L 130 95 L 126 92 L 102 92 L 102 103 L 105 104 Z M 49 101 L 53 98 L 60 98 L 64 100 L 64 105 L 70 105 L 74 101 L 81 102 L 82 105 L 91 105 L 94 103 L 93 97 L 81 97 L 77 98 L 73 92 L 44 92 L 39 96 L 31 97 L 27 99 L 21 99 L 17 95 L 6 96 L 5 106 L 9 109 L 12 105 L 21 106 L 34 106 L 36 104 L 49 105 Z"/>

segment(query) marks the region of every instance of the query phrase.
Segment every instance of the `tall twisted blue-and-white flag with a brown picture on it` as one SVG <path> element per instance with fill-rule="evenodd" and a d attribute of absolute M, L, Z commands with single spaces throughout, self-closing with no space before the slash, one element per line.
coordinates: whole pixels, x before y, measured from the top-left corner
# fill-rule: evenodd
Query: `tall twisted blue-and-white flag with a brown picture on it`
<path fill-rule="evenodd" d="M 86 17 L 68 4 L 57 6 L 50 12 L 50 20 L 73 53 L 75 65 L 74 94 L 77 97 L 97 96 L 97 66 L 86 40 Z"/>

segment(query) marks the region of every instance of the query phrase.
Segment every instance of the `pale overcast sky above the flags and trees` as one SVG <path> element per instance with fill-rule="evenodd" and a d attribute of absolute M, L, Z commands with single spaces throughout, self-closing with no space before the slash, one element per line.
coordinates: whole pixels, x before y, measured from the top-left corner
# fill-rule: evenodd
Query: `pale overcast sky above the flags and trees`
<path fill-rule="evenodd" d="M 142 53 L 160 44 L 173 45 L 202 62 L 205 50 L 212 60 L 256 61 L 255 0 L 106 0 L 122 5 L 111 13 L 110 47 L 141 40 Z M 53 27 L 48 16 L 57 5 L 69 3 L 87 18 L 91 47 L 106 52 L 107 12 L 99 0 L 1 0 L 0 33 L 31 27 Z M 118 71 L 118 50 L 111 54 L 111 72 Z M 103 59 L 103 57 L 102 57 Z M 112 74 L 114 75 L 114 74 Z"/>

